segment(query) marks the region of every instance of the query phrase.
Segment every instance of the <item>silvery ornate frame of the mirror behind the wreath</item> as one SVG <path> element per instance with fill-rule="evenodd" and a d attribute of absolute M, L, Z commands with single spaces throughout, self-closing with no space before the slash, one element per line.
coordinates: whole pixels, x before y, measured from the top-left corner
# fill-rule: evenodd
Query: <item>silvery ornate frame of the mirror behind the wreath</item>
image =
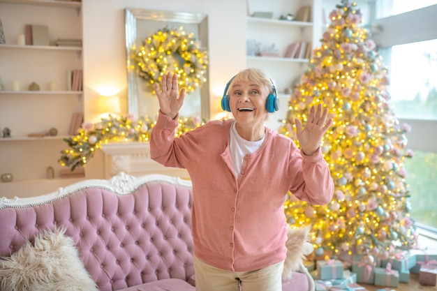
<path fill-rule="evenodd" d="M 147 10 L 126 8 L 126 68 L 128 75 L 128 112 L 139 115 L 137 96 L 137 73 L 135 66 L 135 44 L 137 43 L 137 25 L 139 20 L 156 22 L 172 22 L 177 24 L 197 24 L 199 35 L 196 37 L 202 47 L 208 50 L 208 17 L 203 13 L 186 13 L 163 10 Z M 165 23 L 163 24 L 165 26 Z M 209 120 L 209 67 L 207 68 L 207 81 L 200 88 L 200 118 Z"/>

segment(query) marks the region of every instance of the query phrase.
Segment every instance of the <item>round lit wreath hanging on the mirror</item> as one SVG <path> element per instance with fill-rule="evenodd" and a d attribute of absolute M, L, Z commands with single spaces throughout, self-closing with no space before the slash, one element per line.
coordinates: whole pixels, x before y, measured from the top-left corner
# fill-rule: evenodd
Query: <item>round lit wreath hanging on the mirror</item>
<path fill-rule="evenodd" d="M 136 54 L 138 75 L 151 85 L 161 83 L 161 77 L 168 72 L 177 73 L 179 86 L 192 92 L 206 82 L 208 66 L 207 51 L 199 47 L 193 37 L 179 29 L 158 30 L 144 40 Z"/>

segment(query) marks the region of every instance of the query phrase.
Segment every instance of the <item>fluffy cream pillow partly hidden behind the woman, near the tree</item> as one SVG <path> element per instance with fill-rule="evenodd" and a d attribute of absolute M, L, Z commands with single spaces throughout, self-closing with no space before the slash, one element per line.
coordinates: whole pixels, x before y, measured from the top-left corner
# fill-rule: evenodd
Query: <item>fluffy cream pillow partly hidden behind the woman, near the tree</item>
<path fill-rule="evenodd" d="M 291 278 L 293 271 L 307 273 L 302 260 L 306 255 L 313 252 L 313 245 L 310 242 L 309 231 L 311 225 L 292 229 L 288 227 L 287 258 L 283 265 L 282 278 Z"/>

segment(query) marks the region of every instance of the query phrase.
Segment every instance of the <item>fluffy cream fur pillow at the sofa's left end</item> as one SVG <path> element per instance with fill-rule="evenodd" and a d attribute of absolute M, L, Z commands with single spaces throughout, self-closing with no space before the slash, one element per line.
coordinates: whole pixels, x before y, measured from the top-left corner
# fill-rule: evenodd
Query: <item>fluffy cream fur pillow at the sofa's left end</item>
<path fill-rule="evenodd" d="M 10 258 L 0 260 L 0 289 L 4 291 L 98 290 L 65 230 L 47 231 L 28 241 Z"/>

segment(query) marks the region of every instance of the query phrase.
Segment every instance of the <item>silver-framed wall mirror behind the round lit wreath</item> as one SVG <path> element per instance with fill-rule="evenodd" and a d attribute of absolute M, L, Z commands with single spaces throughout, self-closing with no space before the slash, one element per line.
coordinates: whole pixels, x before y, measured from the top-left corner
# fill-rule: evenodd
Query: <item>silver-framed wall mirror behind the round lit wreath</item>
<path fill-rule="evenodd" d="M 158 113 L 158 98 L 147 88 L 147 81 L 138 75 L 135 54 L 143 45 L 145 38 L 156 31 L 183 27 L 186 33 L 194 33 L 200 47 L 208 50 L 207 15 L 202 13 L 184 13 L 161 10 L 126 8 L 126 59 L 128 74 L 128 110 L 140 116 L 155 118 Z M 209 120 L 209 73 L 202 87 L 185 96 L 184 105 L 179 111 L 180 117 L 200 117 Z M 181 88 L 179 87 L 179 90 Z"/>

